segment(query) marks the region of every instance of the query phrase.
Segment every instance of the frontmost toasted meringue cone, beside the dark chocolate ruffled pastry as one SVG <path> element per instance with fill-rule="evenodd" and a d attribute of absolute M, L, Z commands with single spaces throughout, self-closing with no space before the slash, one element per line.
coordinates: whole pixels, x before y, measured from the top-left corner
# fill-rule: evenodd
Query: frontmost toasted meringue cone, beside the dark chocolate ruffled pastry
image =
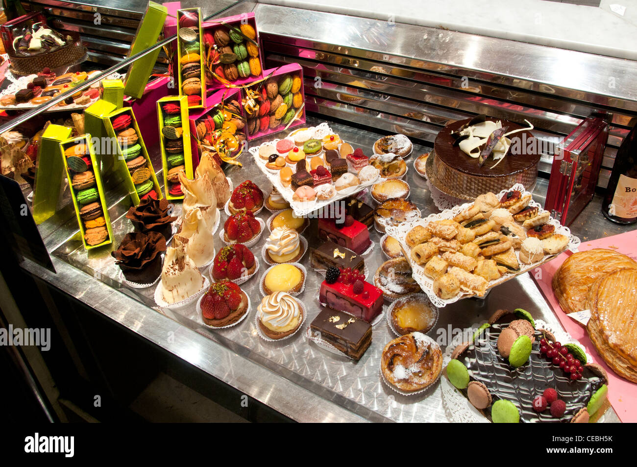
<path fill-rule="evenodd" d="M 186 253 L 185 245 L 168 247 L 161 270 L 161 297 L 173 304 L 193 296 L 203 287 L 204 278 Z"/>

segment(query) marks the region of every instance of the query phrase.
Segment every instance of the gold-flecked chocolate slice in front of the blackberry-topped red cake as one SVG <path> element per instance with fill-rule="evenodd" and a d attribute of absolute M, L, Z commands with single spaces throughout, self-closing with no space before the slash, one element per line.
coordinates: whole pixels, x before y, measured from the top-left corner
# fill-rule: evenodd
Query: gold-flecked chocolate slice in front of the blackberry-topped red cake
<path fill-rule="evenodd" d="M 371 324 L 326 306 L 311 322 L 312 334 L 320 333 L 320 338 L 343 354 L 359 361 L 371 345 Z"/>

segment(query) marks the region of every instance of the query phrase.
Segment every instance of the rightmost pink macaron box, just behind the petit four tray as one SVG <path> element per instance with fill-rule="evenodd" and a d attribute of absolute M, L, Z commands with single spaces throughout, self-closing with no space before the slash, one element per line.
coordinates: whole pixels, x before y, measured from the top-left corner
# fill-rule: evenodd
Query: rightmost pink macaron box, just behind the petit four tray
<path fill-rule="evenodd" d="M 278 90 L 276 93 L 277 95 L 275 99 L 268 98 L 269 104 L 272 104 L 273 101 L 276 101 L 277 99 L 279 99 L 279 96 L 280 96 L 281 99 L 283 99 L 283 101 L 282 103 L 279 104 L 278 108 L 285 106 L 286 111 L 283 113 L 280 119 L 276 119 L 276 117 L 278 117 L 278 115 L 276 115 L 276 111 L 275 112 L 269 111 L 269 114 L 266 114 L 266 115 L 259 114 L 259 116 L 255 118 L 255 120 L 257 120 L 256 123 L 258 124 L 257 131 L 254 131 L 253 129 L 252 132 L 250 132 L 250 129 L 253 128 L 254 125 L 251 125 L 252 122 L 248 121 L 250 120 L 248 118 L 246 122 L 246 126 L 245 126 L 246 128 L 245 134 L 248 141 L 255 140 L 257 138 L 262 138 L 263 136 L 267 136 L 269 134 L 278 133 L 279 131 L 283 131 L 284 129 L 286 129 L 286 127 L 287 127 L 287 130 L 289 130 L 294 127 L 303 126 L 306 121 L 305 120 L 305 105 L 304 105 L 305 92 L 303 89 L 303 68 L 301 67 L 301 65 L 299 65 L 298 63 L 289 63 L 283 66 L 280 66 L 278 68 L 266 69 L 266 71 L 264 71 L 264 79 L 265 79 L 264 82 L 256 83 L 254 86 L 251 86 L 250 89 L 252 90 L 258 89 L 259 91 L 261 91 L 261 86 L 265 86 L 266 83 L 269 82 L 269 80 L 275 80 L 278 86 Z M 297 80 L 297 82 L 298 80 L 300 80 L 300 87 L 298 90 L 296 90 L 296 92 L 292 92 L 294 90 L 292 87 L 292 83 L 294 82 L 295 79 Z M 285 88 L 282 89 L 282 87 L 285 87 Z M 301 103 L 297 104 L 297 106 L 293 104 L 295 102 L 294 94 L 300 94 L 301 96 Z M 241 89 L 241 97 L 242 97 L 242 102 L 245 101 L 247 95 L 244 89 Z M 279 102 L 281 102 L 280 99 L 279 99 Z M 294 117 L 299 112 L 299 109 L 301 109 L 301 111 L 297 119 L 294 120 Z M 268 117 L 268 115 L 271 117 L 270 122 L 268 122 L 269 125 L 271 125 L 271 120 L 273 118 L 275 120 L 280 120 L 280 123 L 276 124 L 275 127 L 268 126 L 266 129 L 264 129 L 263 128 L 265 126 L 264 119 L 265 117 Z M 290 124 L 290 121 L 292 122 L 291 124 Z M 288 124 L 290 124 L 290 126 L 288 126 Z M 285 136 L 287 136 L 287 134 Z M 281 138 L 283 138 L 283 136 Z"/>

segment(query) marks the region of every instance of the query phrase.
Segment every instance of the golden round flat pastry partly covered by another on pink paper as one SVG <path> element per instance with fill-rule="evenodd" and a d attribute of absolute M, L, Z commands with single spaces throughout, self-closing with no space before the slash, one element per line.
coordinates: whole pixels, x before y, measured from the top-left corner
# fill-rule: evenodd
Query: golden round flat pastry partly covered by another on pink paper
<path fill-rule="evenodd" d="M 553 292 L 566 313 L 585 310 L 592 284 L 599 277 L 622 268 L 637 269 L 637 262 L 606 248 L 574 253 L 555 271 Z"/>

